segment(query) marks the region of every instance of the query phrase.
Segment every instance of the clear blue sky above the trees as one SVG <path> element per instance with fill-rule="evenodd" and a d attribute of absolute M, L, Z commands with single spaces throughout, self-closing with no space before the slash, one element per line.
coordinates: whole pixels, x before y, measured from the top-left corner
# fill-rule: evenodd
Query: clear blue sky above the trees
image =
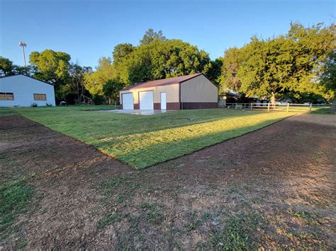
<path fill-rule="evenodd" d="M 148 28 L 161 29 L 204 49 L 211 59 L 241 47 L 252 35 L 286 33 L 291 21 L 304 25 L 335 21 L 335 1 L 16 1 L 0 0 L 0 55 L 23 65 L 26 52 L 53 49 L 73 62 L 96 66 L 118 43 L 138 45 Z"/>

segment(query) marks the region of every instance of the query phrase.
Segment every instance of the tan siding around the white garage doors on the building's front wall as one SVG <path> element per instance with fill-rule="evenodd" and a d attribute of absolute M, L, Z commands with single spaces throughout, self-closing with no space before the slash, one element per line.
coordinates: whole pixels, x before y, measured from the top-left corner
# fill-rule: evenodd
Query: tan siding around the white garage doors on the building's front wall
<path fill-rule="evenodd" d="M 153 91 L 154 93 L 154 103 L 160 103 L 160 93 L 167 93 L 166 95 L 166 102 L 167 103 L 177 103 L 179 102 L 179 84 L 174 83 L 172 85 L 167 86 L 157 86 L 157 87 L 150 87 L 150 88 L 138 88 L 135 90 L 126 90 L 120 91 L 120 96 L 122 93 L 133 93 L 133 100 L 135 104 L 139 103 L 139 95 L 140 91 Z M 121 98 L 120 98 L 121 100 Z M 121 104 L 122 104 L 121 100 Z"/>

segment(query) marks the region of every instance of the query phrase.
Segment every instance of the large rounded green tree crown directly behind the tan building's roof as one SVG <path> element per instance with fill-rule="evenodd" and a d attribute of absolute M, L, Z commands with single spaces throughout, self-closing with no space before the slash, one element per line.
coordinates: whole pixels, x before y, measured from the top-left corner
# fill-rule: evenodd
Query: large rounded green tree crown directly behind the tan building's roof
<path fill-rule="evenodd" d="M 126 86 L 152 79 L 208 73 L 211 59 L 203 50 L 181 40 L 153 40 L 123 57 L 116 74 Z"/>

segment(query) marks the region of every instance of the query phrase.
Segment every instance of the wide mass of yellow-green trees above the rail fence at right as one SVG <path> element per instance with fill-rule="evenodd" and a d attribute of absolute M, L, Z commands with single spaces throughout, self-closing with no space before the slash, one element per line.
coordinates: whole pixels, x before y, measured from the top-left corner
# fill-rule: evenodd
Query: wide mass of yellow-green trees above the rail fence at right
<path fill-rule="evenodd" d="M 305 28 L 291 23 L 286 35 L 252 37 L 244 47 L 225 52 L 221 84 L 250 97 L 271 98 L 272 103 L 276 95 L 323 95 L 317 76 L 332 49 L 334 31 L 333 25 Z"/>

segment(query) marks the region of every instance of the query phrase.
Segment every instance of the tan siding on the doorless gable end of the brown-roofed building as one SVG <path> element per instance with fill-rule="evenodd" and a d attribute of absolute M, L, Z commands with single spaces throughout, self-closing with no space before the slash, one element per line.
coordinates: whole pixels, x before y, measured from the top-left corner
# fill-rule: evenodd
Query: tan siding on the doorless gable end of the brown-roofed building
<path fill-rule="evenodd" d="M 218 88 L 203 75 L 181 83 L 182 103 L 216 103 Z"/>

